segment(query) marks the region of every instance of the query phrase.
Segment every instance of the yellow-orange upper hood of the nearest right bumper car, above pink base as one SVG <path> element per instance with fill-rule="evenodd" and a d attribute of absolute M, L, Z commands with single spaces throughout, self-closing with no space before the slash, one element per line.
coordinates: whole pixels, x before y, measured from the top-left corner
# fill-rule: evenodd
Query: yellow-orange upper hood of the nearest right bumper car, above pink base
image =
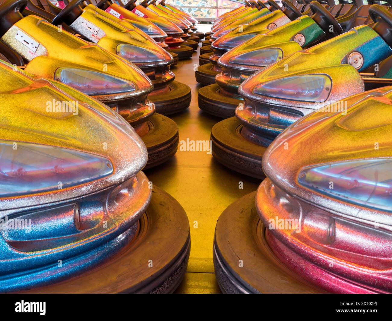
<path fill-rule="evenodd" d="M 350 197 L 340 197 L 339 191 L 332 197 L 333 193 L 325 193 L 323 187 L 310 188 L 312 184 L 321 185 L 321 181 L 312 176 L 315 171 L 308 170 L 315 166 L 329 167 L 347 161 L 392 160 L 391 98 L 392 87 L 383 87 L 348 97 L 345 111 L 315 111 L 302 118 L 283 131 L 267 148 L 263 155 L 263 170 L 266 176 L 290 197 L 299 198 L 315 207 L 359 223 L 373 225 L 374 222 L 379 222 L 380 227 L 392 230 L 390 202 L 388 209 L 382 210 L 372 204 L 373 196 L 377 196 L 379 192 L 373 195 L 374 191 L 370 190 L 368 196 L 358 192 L 358 197 L 365 197 L 360 203 L 368 206 L 352 203 Z M 292 157 L 294 155 L 296 157 Z M 382 172 L 377 177 L 377 170 L 373 172 L 372 167 L 362 165 L 350 169 L 350 165 L 346 165 L 344 173 L 355 176 L 359 182 L 372 180 L 381 185 L 388 184 L 388 181 L 385 181 L 388 178 L 384 177 Z M 323 170 L 325 169 L 320 168 L 319 173 Z M 326 172 L 328 173 L 328 169 Z M 340 178 L 341 175 L 337 177 Z M 312 182 L 310 185 L 299 183 L 300 180 L 308 179 Z M 338 184 L 333 175 L 325 180 L 335 180 Z M 352 187 L 350 185 L 355 181 L 353 177 L 347 178 L 346 194 L 351 196 L 351 199 L 356 197 L 358 184 Z M 337 189 L 338 186 L 334 188 Z M 329 191 L 332 190 L 329 187 Z M 386 198 L 390 198 L 388 189 L 381 192 L 385 193 Z M 256 199 L 256 204 L 257 202 Z"/>

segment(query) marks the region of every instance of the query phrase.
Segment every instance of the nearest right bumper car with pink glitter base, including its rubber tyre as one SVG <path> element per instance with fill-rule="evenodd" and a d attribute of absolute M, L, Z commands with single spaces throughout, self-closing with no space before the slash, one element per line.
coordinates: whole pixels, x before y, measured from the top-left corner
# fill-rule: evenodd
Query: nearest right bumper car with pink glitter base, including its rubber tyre
<path fill-rule="evenodd" d="M 216 224 L 223 292 L 392 292 L 391 98 L 351 96 L 347 113 L 313 112 L 272 142 L 267 178 Z"/>

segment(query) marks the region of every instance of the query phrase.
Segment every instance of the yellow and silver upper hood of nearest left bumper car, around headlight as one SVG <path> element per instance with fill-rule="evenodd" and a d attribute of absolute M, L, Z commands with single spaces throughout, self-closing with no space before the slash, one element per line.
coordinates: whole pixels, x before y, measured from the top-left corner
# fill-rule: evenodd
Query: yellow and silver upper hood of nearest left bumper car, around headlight
<path fill-rule="evenodd" d="M 113 174 L 94 183 L 58 189 L 52 192 L 2 198 L 2 216 L 18 212 L 20 208 L 45 207 L 69 199 L 94 194 L 134 177 L 147 162 L 147 150 L 142 139 L 122 117 L 98 101 L 54 80 L 26 76 L 21 71 L 1 64 L 0 85 L 2 128 L 0 139 L 31 142 L 73 149 L 107 158 L 113 164 Z M 34 98 L 32 98 L 34 97 Z M 73 112 L 47 111 L 48 102 L 78 102 Z M 9 103 L 9 102 L 13 103 Z M 15 117 L 15 114 L 24 117 Z M 123 142 L 127 142 L 124 149 Z M 107 148 L 106 148 L 106 147 Z M 23 204 L 23 206 L 21 206 Z"/>

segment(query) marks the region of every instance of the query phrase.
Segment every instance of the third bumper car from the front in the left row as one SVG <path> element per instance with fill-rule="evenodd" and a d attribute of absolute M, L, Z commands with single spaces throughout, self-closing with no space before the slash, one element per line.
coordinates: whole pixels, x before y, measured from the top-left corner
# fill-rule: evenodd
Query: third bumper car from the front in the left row
<path fill-rule="evenodd" d="M 82 9 L 82 1 L 74 0 L 68 4 L 52 24 L 64 22 L 87 41 L 118 54 L 142 69 L 154 85 L 148 98 L 154 102 L 160 114 L 169 115 L 187 109 L 191 103 L 191 88 L 174 81 L 175 75 L 170 70 L 172 56 L 127 21 L 92 4 Z M 91 29 L 95 31 L 91 32 Z"/>

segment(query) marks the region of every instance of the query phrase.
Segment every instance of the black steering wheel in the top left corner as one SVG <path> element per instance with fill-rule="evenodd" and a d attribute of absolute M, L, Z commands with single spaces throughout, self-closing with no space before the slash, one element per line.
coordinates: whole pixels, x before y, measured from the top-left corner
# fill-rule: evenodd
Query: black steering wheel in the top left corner
<path fill-rule="evenodd" d="M 23 18 L 20 11 L 23 11 L 26 5 L 27 0 L 6 0 L 0 4 L 0 37 Z"/>

